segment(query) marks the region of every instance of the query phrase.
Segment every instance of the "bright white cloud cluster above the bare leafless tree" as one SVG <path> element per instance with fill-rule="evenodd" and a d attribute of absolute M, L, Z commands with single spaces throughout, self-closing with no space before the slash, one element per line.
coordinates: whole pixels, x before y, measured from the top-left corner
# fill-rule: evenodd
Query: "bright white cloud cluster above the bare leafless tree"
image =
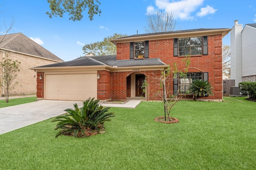
<path fill-rule="evenodd" d="M 154 13 L 156 10 L 164 10 L 172 12 L 174 18 L 179 18 L 180 20 L 193 20 L 193 13 L 203 5 L 204 0 L 155 0 L 155 2 L 157 9 L 153 6 L 148 6 L 148 13 Z M 201 8 L 201 11 L 198 12 L 198 16 L 214 14 L 215 11 L 216 9 L 207 6 L 206 8 Z"/>

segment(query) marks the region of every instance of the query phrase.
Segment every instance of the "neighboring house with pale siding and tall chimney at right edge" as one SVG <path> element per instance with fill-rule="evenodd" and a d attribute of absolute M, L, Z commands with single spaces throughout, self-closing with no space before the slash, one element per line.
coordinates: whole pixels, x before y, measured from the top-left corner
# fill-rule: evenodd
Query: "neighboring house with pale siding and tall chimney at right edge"
<path fill-rule="evenodd" d="M 238 24 L 235 21 L 230 32 L 230 78 L 236 86 L 240 82 L 256 82 L 256 23 Z"/>

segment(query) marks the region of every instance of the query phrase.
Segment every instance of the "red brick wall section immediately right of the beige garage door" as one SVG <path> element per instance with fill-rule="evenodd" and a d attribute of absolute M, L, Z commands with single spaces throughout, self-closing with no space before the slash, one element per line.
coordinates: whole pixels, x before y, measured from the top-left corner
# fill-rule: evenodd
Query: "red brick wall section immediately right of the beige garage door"
<path fill-rule="evenodd" d="M 97 99 L 111 99 L 111 72 L 106 70 L 98 70 L 100 79 L 97 80 Z"/>

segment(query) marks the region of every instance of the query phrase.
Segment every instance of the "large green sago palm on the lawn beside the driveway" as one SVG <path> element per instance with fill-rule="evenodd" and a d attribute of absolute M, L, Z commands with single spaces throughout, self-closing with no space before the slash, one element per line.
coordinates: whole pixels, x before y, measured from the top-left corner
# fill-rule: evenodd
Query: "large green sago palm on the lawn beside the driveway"
<path fill-rule="evenodd" d="M 58 121 L 55 130 L 61 129 L 55 137 L 59 135 L 88 137 L 104 129 L 104 122 L 110 121 L 114 113 L 108 112 L 110 107 L 103 107 L 98 102 L 99 100 L 89 98 L 83 102 L 81 108 L 74 104 L 74 109 L 65 109 L 67 113 L 52 120 Z"/>

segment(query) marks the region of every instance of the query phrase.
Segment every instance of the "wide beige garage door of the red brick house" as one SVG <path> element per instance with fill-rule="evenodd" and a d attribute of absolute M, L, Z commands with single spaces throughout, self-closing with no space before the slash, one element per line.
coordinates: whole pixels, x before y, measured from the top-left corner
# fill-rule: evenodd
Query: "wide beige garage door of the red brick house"
<path fill-rule="evenodd" d="M 46 100 L 97 99 L 97 74 L 46 74 Z"/>

